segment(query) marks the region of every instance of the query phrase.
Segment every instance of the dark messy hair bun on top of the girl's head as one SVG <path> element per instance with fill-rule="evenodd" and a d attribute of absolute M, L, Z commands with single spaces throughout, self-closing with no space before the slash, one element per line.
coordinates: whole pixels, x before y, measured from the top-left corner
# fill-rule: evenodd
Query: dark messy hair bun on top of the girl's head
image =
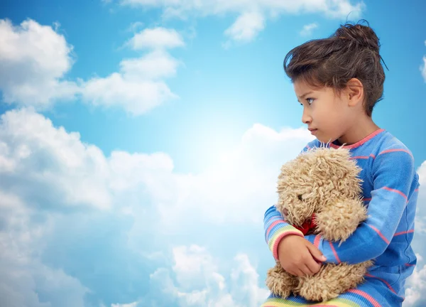
<path fill-rule="evenodd" d="M 379 39 L 370 26 L 346 23 L 337 29 L 337 31 L 334 33 L 334 36 L 337 38 L 349 40 L 353 43 L 356 43 L 356 45 L 372 49 L 379 53 Z"/>

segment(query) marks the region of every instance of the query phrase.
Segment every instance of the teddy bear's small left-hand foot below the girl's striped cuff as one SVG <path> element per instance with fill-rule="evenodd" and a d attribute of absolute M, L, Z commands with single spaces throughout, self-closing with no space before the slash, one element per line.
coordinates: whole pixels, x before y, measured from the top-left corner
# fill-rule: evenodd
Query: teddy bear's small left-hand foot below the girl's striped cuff
<path fill-rule="evenodd" d="M 298 284 L 296 276 L 288 274 L 279 263 L 266 274 L 266 286 L 272 293 L 287 298 Z"/>

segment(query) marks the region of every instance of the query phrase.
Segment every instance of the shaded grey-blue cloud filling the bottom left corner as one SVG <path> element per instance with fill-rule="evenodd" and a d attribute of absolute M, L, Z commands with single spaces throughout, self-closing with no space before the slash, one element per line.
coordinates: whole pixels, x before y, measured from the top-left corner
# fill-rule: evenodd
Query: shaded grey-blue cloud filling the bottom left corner
<path fill-rule="evenodd" d="M 1 175 L 2 176 L 2 175 Z M 0 297 L 5 306 L 84 307 L 89 291 L 62 269 L 40 262 L 40 252 L 53 227 L 53 220 L 40 217 L 23 199 L 4 192 L 0 183 Z"/>

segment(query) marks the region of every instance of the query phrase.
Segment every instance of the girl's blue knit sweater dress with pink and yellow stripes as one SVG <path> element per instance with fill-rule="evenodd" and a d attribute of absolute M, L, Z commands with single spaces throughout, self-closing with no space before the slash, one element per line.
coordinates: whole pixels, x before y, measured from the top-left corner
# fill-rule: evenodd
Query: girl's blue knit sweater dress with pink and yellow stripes
<path fill-rule="evenodd" d="M 321 146 L 320 141 L 311 141 L 303 151 L 316 146 Z M 339 147 L 334 143 L 327 146 Z M 316 306 L 402 306 L 405 281 L 413 273 L 417 260 L 411 248 L 419 188 L 413 154 L 383 129 L 344 147 L 362 169 L 360 178 L 368 219 L 340 246 L 320 235 L 305 238 L 320 249 L 327 257 L 326 262 L 356 264 L 374 259 L 374 266 L 368 270 L 364 284 Z M 280 239 L 291 234 L 302 235 L 284 221 L 275 206 L 266 210 L 264 226 L 265 239 L 275 259 Z M 284 300 L 271 294 L 262 306 L 312 305 L 298 296 Z"/>

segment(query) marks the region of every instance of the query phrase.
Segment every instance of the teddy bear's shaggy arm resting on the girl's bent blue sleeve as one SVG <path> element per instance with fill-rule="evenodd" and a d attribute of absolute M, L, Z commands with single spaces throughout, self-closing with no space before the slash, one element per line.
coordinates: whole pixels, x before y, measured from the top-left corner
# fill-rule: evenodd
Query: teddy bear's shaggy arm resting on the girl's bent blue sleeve
<path fill-rule="evenodd" d="M 362 200 L 332 200 L 317 213 L 316 230 L 328 241 L 344 242 L 366 218 Z"/>

